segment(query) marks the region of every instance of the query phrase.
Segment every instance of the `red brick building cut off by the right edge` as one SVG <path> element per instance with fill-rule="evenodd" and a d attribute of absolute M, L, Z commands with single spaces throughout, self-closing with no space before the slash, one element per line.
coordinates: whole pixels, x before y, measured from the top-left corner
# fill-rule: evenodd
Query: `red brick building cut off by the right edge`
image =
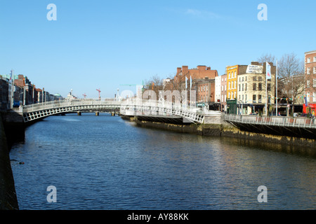
<path fill-rule="evenodd" d="M 305 80 L 307 87 L 305 96 L 311 111 L 316 114 L 316 50 L 305 52 Z M 303 112 L 306 113 L 305 104 Z"/>

